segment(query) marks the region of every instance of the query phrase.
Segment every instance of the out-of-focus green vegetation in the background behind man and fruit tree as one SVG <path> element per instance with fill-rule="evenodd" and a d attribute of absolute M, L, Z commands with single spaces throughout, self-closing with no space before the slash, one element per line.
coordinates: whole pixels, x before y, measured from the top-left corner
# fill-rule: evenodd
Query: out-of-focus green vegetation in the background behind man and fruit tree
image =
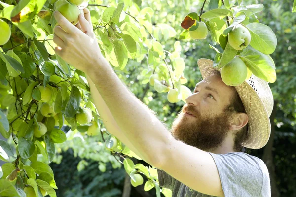
<path fill-rule="evenodd" d="M 117 0 L 116 2 L 124 1 Z M 151 7 L 154 10 L 153 25 L 165 23 L 176 30 L 175 39 L 161 42 L 167 51 L 173 50 L 175 41 L 183 31 L 180 24 L 186 14 L 198 12 L 203 3 L 203 0 L 135 1 L 140 8 Z M 246 152 L 261 158 L 267 165 L 272 197 L 296 197 L 296 75 L 294 74 L 296 73 L 296 14 L 291 12 L 293 1 L 244 0 L 244 2 L 264 5 L 264 10 L 257 14 L 258 20 L 268 25 L 278 40 L 277 48 L 271 54 L 277 71 L 276 82 L 269 84 L 275 103 L 270 117 L 271 136 L 265 147 L 259 150 L 246 150 Z M 109 3 L 108 0 L 89 0 L 89 4 L 110 5 Z M 96 12 L 95 8 L 104 10 L 104 7 L 97 6 L 88 8 L 94 10 L 92 14 Z M 207 10 L 207 4 L 204 10 Z M 193 90 L 201 77 L 197 60 L 199 58 L 213 59 L 215 51 L 209 47 L 209 44 L 212 44 L 209 35 L 205 40 L 189 42 L 180 40 L 180 44 L 182 46 L 181 56 L 186 64 L 184 73 L 188 79 L 188 83 L 184 85 Z M 120 71 L 118 76 L 135 96 L 155 111 L 159 119 L 170 127 L 185 103 L 182 101 L 175 104 L 169 103 L 166 94 L 157 93 L 149 83 L 138 82 L 145 68 L 147 68 L 146 59 L 141 63 L 130 59 L 126 66 L 127 72 Z M 101 129 L 105 129 L 102 122 Z M 59 188 L 56 191 L 58 197 L 156 197 L 154 188 L 145 192 L 144 185 L 136 188 L 126 187 L 125 182 L 129 183 L 129 180 L 123 166 L 110 152 L 102 149 L 103 140 L 100 136 L 83 138 L 73 135 L 69 128 L 64 128 L 64 131 L 67 132 L 68 140 L 63 144 L 57 144 L 58 153 L 54 162 L 50 164 Z M 132 159 L 135 164 L 141 163 L 149 166 L 142 160 Z"/>

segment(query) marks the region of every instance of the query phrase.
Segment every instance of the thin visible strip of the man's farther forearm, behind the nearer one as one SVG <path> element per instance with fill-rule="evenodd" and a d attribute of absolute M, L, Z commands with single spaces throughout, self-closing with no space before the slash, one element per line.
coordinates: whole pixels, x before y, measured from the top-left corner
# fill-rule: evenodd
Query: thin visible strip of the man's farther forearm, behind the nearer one
<path fill-rule="evenodd" d="M 123 131 L 119 128 L 115 119 L 113 118 L 108 106 L 106 105 L 104 99 L 100 95 L 99 91 L 95 87 L 94 83 L 87 76 L 87 81 L 90 87 L 91 96 L 94 100 L 97 111 L 109 133 L 115 135 L 122 143 L 124 143 L 130 150 L 132 150 L 136 155 L 143 159 L 141 153 L 134 147 L 133 143 L 126 137 Z M 146 161 L 147 162 L 147 161 Z"/>

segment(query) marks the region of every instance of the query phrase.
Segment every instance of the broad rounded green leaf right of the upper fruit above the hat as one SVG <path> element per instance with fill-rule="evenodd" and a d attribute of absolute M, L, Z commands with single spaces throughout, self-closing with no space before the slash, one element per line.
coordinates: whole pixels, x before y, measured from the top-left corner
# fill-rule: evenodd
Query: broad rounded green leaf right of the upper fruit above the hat
<path fill-rule="evenodd" d="M 262 23 L 249 23 L 246 27 L 251 33 L 250 45 L 254 49 L 267 55 L 275 51 L 277 39 L 270 27 Z"/>

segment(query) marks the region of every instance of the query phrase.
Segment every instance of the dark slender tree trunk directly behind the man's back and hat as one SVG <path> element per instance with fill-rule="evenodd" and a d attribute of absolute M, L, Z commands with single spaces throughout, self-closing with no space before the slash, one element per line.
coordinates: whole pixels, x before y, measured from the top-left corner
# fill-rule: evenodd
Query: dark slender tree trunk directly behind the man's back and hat
<path fill-rule="evenodd" d="M 277 105 L 277 101 L 274 101 L 273 110 L 270 115 L 270 124 L 271 124 L 270 138 L 264 147 L 264 153 L 263 153 L 263 157 L 262 157 L 262 160 L 266 164 L 268 171 L 269 171 L 271 196 L 272 197 L 279 197 L 280 196 L 279 190 L 276 186 L 276 174 L 275 174 L 273 157 L 272 157 L 272 147 L 273 147 L 274 133 L 275 133 L 274 119 L 276 116 L 276 105 Z"/>

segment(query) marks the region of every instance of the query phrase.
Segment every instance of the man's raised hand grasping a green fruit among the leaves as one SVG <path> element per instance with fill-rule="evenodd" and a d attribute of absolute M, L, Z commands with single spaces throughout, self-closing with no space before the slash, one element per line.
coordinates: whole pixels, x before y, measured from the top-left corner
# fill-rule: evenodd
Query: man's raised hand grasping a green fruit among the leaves
<path fill-rule="evenodd" d="M 57 26 L 53 41 L 58 45 L 54 50 L 68 64 L 87 73 L 93 66 L 100 66 L 104 57 L 92 29 L 90 12 L 87 8 L 79 15 L 79 23 L 74 26 L 60 12 L 55 11 Z"/>

